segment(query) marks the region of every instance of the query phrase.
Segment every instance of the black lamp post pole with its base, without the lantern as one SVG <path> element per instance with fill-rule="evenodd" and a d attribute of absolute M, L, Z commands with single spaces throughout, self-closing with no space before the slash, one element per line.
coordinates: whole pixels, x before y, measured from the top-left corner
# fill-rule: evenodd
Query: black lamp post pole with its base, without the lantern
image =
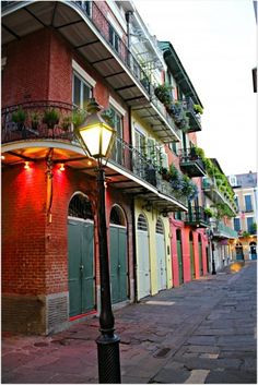
<path fill-rule="evenodd" d="M 101 314 L 99 332 L 96 339 L 98 359 L 98 380 L 101 384 L 120 384 L 120 358 L 119 337 L 115 335 L 115 320 L 112 311 L 108 251 L 107 251 L 107 228 L 105 209 L 105 171 L 102 165 L 97 168 L 97 190 L 98 190 L 98 250 L 101 270 Z"/>

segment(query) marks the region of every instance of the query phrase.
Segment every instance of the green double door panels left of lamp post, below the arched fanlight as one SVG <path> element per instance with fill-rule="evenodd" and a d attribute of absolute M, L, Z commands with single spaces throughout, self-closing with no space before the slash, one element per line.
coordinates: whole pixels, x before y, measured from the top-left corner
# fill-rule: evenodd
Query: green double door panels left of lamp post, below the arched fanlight
<path fill-rule="evenodd" d="M 70 316 L 95 309 L 94 232 L 90 220 L 68 221 Z"/>

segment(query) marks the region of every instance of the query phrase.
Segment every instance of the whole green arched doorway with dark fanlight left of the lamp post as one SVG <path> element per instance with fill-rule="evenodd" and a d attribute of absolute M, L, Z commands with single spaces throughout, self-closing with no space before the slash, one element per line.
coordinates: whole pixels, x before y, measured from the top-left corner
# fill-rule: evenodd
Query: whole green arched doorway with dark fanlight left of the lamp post
<path fill-rule="evenodd" d="M 93 214 L 81 193 L 69 204 L 68 260 L 69 314 L 75 316 L 96 309 Z"/>

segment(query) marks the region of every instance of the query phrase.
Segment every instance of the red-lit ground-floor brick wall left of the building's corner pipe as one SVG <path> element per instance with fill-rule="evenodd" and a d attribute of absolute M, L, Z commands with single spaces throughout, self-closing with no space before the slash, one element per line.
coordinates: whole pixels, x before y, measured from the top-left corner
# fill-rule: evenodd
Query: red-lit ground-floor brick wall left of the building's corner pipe
<path fill-rule="evenodd" d="M 42 165 L 2 172 L 2 291 L 45 291 L 45 200 Z"/>

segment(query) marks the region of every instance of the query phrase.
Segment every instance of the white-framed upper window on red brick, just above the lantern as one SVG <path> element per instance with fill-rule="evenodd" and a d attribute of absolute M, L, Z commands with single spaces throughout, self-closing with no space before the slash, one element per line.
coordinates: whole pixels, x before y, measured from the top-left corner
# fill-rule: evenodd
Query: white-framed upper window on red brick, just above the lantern
<path fill-rule="evenodd" d="M 72 103 L 79 108 L 86 109 L 86 104 L 90 98 L 92 98 L 92 86 L 74 72 L 72 84 Z"/>

